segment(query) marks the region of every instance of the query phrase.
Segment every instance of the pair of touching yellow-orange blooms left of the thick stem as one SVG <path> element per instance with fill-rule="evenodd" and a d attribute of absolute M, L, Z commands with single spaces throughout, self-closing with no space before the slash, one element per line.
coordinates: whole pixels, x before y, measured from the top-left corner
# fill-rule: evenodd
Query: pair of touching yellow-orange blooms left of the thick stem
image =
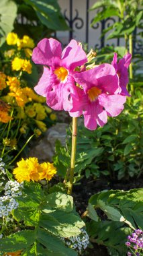
<path fill-rule="evenodd" d="M 50 162 L 38 163 L 38 158 L 27 158 L 17 162 L 17 167 L 13 170 L 15 179 L 21 183 L 22 181 L 40 181 L 46 179 L 50 181 L 56 168 Z"/>

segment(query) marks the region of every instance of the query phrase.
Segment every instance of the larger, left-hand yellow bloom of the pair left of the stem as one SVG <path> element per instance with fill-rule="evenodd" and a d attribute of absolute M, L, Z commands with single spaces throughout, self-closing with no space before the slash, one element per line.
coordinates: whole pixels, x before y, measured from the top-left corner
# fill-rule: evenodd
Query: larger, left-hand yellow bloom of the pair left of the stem
<path fill-rule="evenodd" d="M 39 172 L 41 171 L 38 158 L 27 158 L 17 162 L 17 167 L 14 168 L 13 174 L 15 179 L 21 183 L 22 181 L 38 181 Z"/>

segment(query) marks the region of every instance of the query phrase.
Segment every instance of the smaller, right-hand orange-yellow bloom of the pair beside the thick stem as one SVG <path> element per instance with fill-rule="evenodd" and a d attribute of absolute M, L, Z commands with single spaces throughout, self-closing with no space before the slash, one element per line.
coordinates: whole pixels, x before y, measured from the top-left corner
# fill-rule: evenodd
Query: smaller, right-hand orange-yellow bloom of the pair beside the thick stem
<path fill-rule="evenodd" d="M 50 164 L 50 162 L 43 162 L 40 164 L 42 168 L 42 172 L 40 172 L 40 180 L 46 179 L 47 181 L 50 181 L 54 174 L 56 174 L 56 168 L 53 164 Z"/>

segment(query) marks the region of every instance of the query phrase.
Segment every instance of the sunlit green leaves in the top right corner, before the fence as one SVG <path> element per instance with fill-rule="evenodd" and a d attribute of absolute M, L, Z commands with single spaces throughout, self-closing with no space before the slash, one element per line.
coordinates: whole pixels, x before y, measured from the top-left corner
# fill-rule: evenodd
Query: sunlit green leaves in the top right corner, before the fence
<path fill-rule="evenodd" d="M 143 13 L 140 9 L 141 5 L 142 0 L 97 1 L 90 9 L 91 11 L 98 9 L 93 24 L 111 16 L 116 16 L 120 18 L 120 22 L 115 22 L 113 26 L 105 30 L 105 32 L 112 30 L 107 39 L 124 37 L 125 34 L 131 34 L 136 27 L 140 28 Z"/>

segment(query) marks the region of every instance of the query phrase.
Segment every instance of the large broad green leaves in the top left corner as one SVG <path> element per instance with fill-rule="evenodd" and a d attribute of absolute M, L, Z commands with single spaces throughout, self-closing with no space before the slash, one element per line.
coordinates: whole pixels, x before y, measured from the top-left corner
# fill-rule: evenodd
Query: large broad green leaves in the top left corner
<path fill-rule="evenodd" d="M 1 0 L 0 16 L 0 45 L 13 29 L 19 36 L 28 34 L 36 41 L 56 30 L 68 30 L 57 0 Z"/>

